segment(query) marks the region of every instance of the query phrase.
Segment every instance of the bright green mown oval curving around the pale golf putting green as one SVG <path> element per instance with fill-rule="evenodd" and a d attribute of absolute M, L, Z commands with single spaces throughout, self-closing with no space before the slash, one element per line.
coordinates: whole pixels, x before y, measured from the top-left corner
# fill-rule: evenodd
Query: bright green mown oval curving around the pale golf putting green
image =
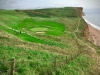
<path fill-rule="evenodd" d="M 45 20 L 42 20 L 42 21 L 39 21 L 39 20 L 36 21 L 35 20 L 34 21 L 34 19 L 32 19 L 32 18 L 27 18 L 27 19 L 23 20 L 15 28 L 17 28 L 18 30 L 19 29 L 22 30 L 24 28 L 25 30 L 29 31 L 29 29 L 31 30 L 32 28 L 38 28 L 38 27 L 39 28 L 44 27 L 45 29 L 47 28 L 48 30 L 46 30 L 46 32 L 45 32 L 47 35 L 57 36 L 57 35 L 61 35 L 64 32 L 64 25 L 63 24 L 60 24 L 60 23 L 57 23 L 57 22 L 54 22 L 54 21 L 45 21 Z M 42 30 L 38 29 L 37 32 L 38 31 L 42 32 Z"/>

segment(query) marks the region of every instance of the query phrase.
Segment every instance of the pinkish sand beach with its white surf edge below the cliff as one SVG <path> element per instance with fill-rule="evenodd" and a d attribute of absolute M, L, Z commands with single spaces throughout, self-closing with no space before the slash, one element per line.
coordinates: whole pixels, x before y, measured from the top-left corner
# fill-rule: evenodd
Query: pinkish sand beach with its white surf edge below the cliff
<path fill-rule="evenodd" d="M 93 44 L 100 46 L 100 29 L 97 28 L 98 26 L 94 26 L 94 24 L 88 22 L 86 19 L 84 20 L 88 27 L 88 40 Z"/>

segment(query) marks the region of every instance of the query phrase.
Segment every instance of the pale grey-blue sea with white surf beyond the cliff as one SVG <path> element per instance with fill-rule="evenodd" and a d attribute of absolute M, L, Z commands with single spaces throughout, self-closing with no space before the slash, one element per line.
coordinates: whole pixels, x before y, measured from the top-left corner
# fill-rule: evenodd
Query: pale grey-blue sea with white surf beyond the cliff
<path fill-rule="evenodd" d="M 100 9 L 99 8 L 91 8 L 89 10 L 84 10 L 85 16 L 83 19 L 90 24 L 92 27 L 100 30 Z"/>

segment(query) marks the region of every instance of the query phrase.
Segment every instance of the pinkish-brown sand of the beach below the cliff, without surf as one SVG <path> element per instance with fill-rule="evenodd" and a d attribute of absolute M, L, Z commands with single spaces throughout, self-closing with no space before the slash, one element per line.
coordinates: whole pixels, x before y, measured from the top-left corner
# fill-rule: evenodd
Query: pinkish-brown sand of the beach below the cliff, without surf
<path fill-rule="evenodd" d="M 100 30 L 92 27 L 89 23 L 87 23 L 87 25 L 89 28 L 90 41 L 95 45 L 100 46 Z"/>

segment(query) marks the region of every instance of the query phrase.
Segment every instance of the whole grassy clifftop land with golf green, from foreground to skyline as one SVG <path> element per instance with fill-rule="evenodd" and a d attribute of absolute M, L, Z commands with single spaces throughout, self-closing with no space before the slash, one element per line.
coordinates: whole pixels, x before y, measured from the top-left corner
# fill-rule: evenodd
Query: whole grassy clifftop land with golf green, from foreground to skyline
<path fill-rule="evenodd" d="M 0 10 L 0 75 L 10 75 L 12 59 L 14 75 L 99 75 L 99 47 L 84 38 L 81 13 L 72 7 Z"/>

